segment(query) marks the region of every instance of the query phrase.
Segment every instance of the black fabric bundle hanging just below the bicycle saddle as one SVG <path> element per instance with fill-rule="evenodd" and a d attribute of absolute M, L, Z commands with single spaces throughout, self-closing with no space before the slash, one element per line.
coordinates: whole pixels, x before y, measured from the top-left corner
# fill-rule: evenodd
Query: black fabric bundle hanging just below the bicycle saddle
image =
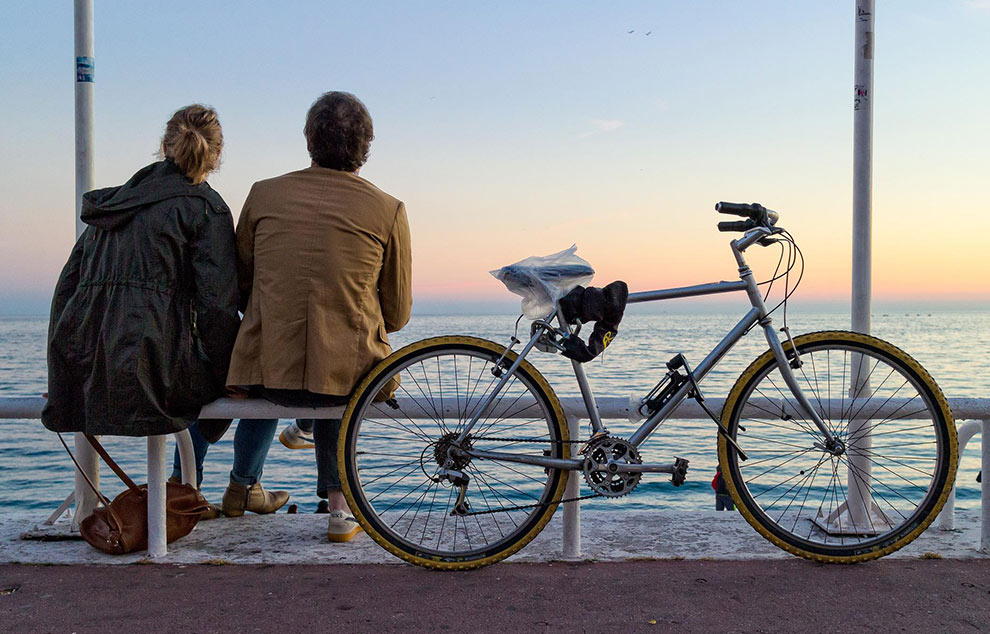
<path fill-rule="evenodd" d="M 608 347 L 619 332 L 626 310 L 629 287 L 618 280 L 604 288 L 578 286 L 560 300 L 560 310 L 569 324 L 595 322 L 587 343 L 577 333 L 561 340 L 563 355 L 581 363 L 591 361 Z"/>

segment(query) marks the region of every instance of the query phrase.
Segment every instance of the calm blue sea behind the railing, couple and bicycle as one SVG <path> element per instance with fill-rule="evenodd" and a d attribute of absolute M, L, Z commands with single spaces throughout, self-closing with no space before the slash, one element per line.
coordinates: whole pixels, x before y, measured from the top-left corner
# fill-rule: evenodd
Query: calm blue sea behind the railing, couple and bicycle
<path fill-rule="evenodd" d="M 606 353 L 586 365 L 597 396 L 642 397 L 663 374 L 663 364 L 684 353 L 693 365 L 700 361 L 739 320 L 739 312 L 652 312 L 630 307 L 618 337 Z M 748 306 L 747 306 L 748 308 Z M 779 325 L 779 314 L 775 323 Z M 415 315 L 391 335 L 393 347 L 432 336 L 466 334 L 508 343 L 516 315 Z M 873 334 L 911 354 L 941 386 L 946 396 L 990 397 L 990 311 L 877 311 Z M 849 315 L 839 311 L 802 313 L 791 310 L 788 325 L 797 335 L 816 330 L 848 329 Z M 0 317 L 0 396 L 38 396 L 46 391 L 45 338 L 47 316 Z M 528 322 L 520 324 L 520 338 Z M 724 397 L 742 370 L 766 349 L 758 330 L 752 331 L 725 357 L 702 384 L 704 394 Z M 529 359 L 549 379 L 560 396 L 579 395 L 570 363 L 557 355 L 534 351 Z M 290 421 L 284 421 L 288 424 Z M 236 424 L 236 422 L 235 422 Z M 628 420 L 606 421 L 616 435 L 636 428 Z M 66 437 L 69 441 L 69 437 Z M 219 502 L 233 459 L 233 428 L 210 449 L 203 492 Z M 110 453 L 137 481 L 145 478 L 146 445 L 142 439 L 105 438 Z M 171 444 L 172 441 L 170 441 Z M 72 443 L 69 442 L 69 446 Z M 717 464 L 716 429 L 711 421 L 671 420 L 642 448 L 644 462 L 690 461 L 687 481 L 672 487 L 669 476 L 646 476 L 632 494 L 582 502 L 589 510 L 656 509 L 658 512 L 713 508 L 711 480 Z M 970 442 L 958 472 L 957 508 L 979 507 L 980 437 Z M 105 492 L 122 490 L 107 468 Z M 315 510 L 316 469 L 312 450 L 289 450 L 276 439 L 265 465 L 263 483 L 286 489 L 300 512 Z M 72 491 L 72 463 L 56 435 L 38 420 L 0 420 L 0 513 L 35 511 L 39 521 Z M 586 491 L 585 491 L 586 492 Z M 112 496 L 111 496 L 112 497 Z"/>

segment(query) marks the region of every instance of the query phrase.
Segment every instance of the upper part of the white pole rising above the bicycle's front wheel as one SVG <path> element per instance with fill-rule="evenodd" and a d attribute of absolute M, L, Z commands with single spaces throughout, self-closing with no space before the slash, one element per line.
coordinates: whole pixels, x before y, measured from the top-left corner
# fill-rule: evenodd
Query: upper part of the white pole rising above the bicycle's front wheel
<path fill-rule="evenodd" d="M 852 329 L 870 333 L 873 207 L 873 0 L 856 0 Z"/>

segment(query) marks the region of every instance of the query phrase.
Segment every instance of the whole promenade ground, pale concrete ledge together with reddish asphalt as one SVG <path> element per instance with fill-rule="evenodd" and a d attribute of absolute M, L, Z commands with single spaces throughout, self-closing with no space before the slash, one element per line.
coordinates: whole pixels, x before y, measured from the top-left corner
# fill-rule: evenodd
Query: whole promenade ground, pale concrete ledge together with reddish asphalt
<path fill-rule="evenodd" d="M 559 515 L 506 562 L 406 565 L 366 535 L 331 544 L 325 516 L 201 522 L 164 559 L 25 540 L 0 515 L 0 634 L 275 632 L 990 632 L 979 516 L 853 566 L 788 555 L 738 513 L 582 513 L 582 561 Z M 31 532 L 31 531 L 29 531 Z"/>

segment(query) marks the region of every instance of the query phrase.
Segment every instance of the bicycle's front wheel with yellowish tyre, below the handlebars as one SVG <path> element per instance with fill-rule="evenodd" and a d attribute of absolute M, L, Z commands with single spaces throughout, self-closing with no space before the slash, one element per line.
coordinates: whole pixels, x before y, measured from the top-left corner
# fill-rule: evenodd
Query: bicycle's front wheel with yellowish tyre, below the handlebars
<path fill-rule="evenodd" d="M 767 351 L 722 412 L 749 457 L 740 460 L 719 438 L 740 512 L 777 546 L 817 561 L 866 561 L 905 546 L 938 515 L 955 478 L 956 428 L 945 397 L 917 361 L 875 337 L 818 332 L 794 345 L 798 384 L 845 450 L 825 451 Z"/>

